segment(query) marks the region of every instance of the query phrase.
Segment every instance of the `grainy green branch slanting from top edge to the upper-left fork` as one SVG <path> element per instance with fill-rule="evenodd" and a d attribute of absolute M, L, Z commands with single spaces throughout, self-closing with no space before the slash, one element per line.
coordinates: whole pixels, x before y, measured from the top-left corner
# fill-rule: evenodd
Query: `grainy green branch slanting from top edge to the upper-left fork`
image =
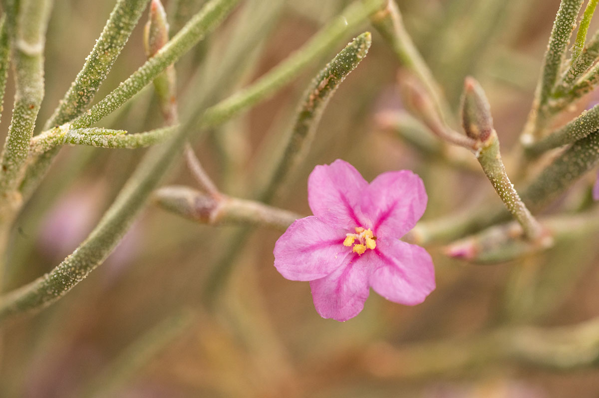
<path fill-rule="evenodd" d="M 60 100 L 44 130 L 81 115 L 123 50 L 149 0 L 118 0 L 83 69 Z"/>

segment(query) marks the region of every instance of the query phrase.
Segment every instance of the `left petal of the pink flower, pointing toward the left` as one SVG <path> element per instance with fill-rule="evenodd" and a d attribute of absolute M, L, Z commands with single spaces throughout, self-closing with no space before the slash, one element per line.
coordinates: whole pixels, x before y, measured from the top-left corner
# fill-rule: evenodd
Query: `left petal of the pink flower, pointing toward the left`
<path fill-rule="evenodd" d="M 314 216 L 291 224 L 274 245 L 274 267 L 291 280 L 314 280 L 338 268 L 350 252 L 343 246 L 344 231 Z"/>

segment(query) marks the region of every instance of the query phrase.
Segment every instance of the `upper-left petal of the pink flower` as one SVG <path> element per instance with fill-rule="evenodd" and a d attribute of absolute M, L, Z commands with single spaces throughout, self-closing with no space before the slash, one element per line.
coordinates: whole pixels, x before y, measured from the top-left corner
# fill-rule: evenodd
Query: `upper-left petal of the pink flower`
<path fill-rule="evenodd" d="M 308 203 L 312 213 L 327 224 L 352 229 L 361 226 L 355 212 L 368 182 L 346 161 L 314 167 L 308 178 Z"/>

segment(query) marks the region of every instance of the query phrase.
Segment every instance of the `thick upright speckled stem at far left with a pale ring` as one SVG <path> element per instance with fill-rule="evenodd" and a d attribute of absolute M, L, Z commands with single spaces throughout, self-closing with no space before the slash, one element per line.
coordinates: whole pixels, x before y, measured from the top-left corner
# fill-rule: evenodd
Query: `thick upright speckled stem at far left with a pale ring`
<path fill-rule="evenodd" d="M 14 39 L 16 95 L 13 118 L 0 158 L 0 219 L 18 209 L 16 190 L 25 172 L 29 141 L 44 97 L 44 41 L 52 2 L 24 0 L 19 5 Z"/>

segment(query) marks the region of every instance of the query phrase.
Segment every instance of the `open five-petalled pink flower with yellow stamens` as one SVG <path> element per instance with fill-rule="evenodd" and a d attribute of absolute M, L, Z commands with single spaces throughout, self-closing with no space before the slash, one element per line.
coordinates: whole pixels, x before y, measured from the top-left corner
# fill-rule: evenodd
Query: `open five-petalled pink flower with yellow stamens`
<path fill-rule="evenodd" d="M 420 304 L 435 289 L 431 256 L 400 241 L 426 209 L 420 177 L 380 174 L 370 184 L 351 164 L 316 166 L 308 178 L 314 216 L 294 222 L 274 246 L 274 267 L 310 281 L 323 318 L 345 321 L 364 308 L 370 287 L 386 299 Z"/>

